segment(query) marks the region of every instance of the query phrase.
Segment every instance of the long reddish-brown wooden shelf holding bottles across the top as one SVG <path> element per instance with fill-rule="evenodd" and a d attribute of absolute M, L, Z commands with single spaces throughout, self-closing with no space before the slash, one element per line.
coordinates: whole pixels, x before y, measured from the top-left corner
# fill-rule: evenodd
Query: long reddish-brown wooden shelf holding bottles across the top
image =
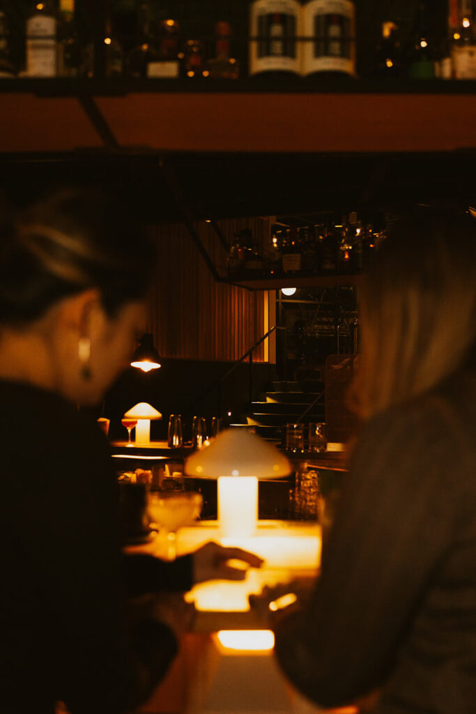
<path fill-rule="evenodd" d="M 476 147 L 476 82 L 0 81 L 0 152 L 355 154 Z"/>

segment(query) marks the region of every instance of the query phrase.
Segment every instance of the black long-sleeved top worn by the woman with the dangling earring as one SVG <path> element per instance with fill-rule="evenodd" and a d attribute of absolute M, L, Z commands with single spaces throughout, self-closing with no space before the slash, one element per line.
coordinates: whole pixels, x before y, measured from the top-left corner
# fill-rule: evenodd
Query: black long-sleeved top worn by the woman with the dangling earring
<path fill-rule="evenodd" d="M 0 711 L 125 710 L 176 652 L 125 596 L 187 590 L 191 556 L 121 556 L 107 439 L 59 396 L 0 381 L 0 439 Z"/>

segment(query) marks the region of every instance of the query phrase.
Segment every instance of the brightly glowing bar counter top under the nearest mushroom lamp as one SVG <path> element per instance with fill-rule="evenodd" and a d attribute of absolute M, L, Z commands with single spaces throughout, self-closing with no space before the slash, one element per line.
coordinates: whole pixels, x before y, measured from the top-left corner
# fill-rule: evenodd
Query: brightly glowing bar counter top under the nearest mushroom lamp
<path fill-rule="evenodd" d="M 202 521 L 178 531 L 178 554 L 196 550 L 209 540 L 250 550 L 260 555 L 265 563 L 262 568 L 250 568 L 241 582 L 213 580 L 196 585 L 187 593 L 186 600 L 195 603 L 198 610 L 198 630 L 213 630 L 217 624 L 221 628 L 228 625 L 256 627 L 259 623 L 255 621 L 255 613 L 250 611 L 248 595 L 259 595 L 265 585 L 310 580 L 318 570 L 321 538 L 320 526 L 316 523 L 259 521 L 256 535 L 231 541 L 221 538 L 216 521 Z M 158 537 L 141 550 L 163 558 L 165 538 Z"/>

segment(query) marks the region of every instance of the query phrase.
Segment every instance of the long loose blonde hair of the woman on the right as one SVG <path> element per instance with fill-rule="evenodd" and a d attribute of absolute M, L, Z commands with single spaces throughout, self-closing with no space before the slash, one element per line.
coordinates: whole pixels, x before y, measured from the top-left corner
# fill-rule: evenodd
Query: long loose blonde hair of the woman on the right
<path fill-rule="evenodd" d="M 360 293 L 349 403 L 368 418 L 431 389 L 476 343 L 476 221 L 420 209 L 384 241 Z"/>

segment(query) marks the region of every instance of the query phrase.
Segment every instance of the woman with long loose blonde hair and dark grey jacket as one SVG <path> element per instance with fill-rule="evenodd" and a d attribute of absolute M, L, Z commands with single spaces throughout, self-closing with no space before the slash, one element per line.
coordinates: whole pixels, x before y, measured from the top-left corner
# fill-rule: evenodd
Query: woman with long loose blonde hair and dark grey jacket
<path fill-rule="evenodd" d="M 360 295 L 362 417 L 313 595 L 277 628 L 330 707 L 476 710 L 476 223 L 395 223 Z"/>

